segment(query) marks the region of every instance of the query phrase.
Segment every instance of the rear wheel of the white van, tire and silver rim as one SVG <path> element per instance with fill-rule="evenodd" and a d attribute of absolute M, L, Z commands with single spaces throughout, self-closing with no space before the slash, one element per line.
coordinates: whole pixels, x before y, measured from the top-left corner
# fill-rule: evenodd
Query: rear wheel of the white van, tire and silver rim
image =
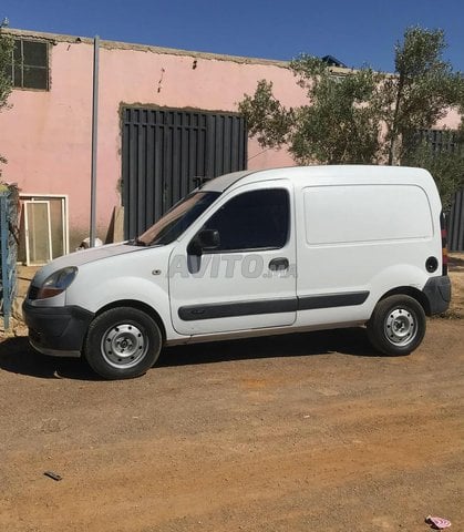
<path fill-rule="evenodd" d="M 368 336 L 383 355 L 409 355 L 425 335 L 425 313 L 410 296 L 396 295 L 380 300 L 368 323 Z"/>

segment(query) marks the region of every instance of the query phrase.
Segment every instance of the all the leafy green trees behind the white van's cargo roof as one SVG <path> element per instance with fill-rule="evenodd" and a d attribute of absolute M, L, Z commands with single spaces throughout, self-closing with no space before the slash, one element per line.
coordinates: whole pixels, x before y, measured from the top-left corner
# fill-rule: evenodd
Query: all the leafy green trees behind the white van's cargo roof
<path fill-rule="evenodd" d="M 408 142 L 451 106 L 464 113 L 464 75 L 443 60 L 441 30 L 409 28 L 394 49 L 395 72 L 332 69 L 318 58 L 290 63 L 308 103 L 286 109 L 261 80 L 239 111 L 262 147 L 286 145 L 300 164 L 414 164 L 432 172 L 445 204 L 463 184 L 462 152 L 433 153 Z"/>

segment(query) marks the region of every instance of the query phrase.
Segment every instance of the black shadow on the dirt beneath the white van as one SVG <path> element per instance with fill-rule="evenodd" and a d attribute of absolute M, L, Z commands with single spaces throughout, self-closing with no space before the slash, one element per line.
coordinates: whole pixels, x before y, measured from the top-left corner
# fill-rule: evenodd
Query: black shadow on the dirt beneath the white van
<path fill-rule="evenodd" d="M 381 356 L 369 344 L 365 329 L 358 327 L 166 347 L 155 368 L 332 352 Z M 0 344 L 0 369 L 42 379 L 103 380 L 84 360 L 47 357 L 37 352 L 25 337 L 9 338 Z"/>

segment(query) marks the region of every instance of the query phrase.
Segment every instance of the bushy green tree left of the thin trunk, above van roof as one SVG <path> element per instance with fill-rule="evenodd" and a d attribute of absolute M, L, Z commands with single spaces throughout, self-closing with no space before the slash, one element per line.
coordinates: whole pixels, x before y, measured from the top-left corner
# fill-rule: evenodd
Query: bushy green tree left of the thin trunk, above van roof
<path fill-rule="evenodd" d="M 264 147 L 287 144 L 301 164 L 369 163 L 378 156 L 381 120 L 379 82 L 370 69 L 334 76 L 326 63 L 301 55 L 290 63 L 308 105 L 286 109 L 261 80 L 252 96 L 245 95 L 239 111 L 249 133 Z"/>

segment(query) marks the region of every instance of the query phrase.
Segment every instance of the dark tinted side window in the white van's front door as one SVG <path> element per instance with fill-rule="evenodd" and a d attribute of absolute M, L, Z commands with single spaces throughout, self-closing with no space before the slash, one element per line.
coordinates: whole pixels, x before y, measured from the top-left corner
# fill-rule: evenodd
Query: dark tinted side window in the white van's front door
<path fill-rule="evenodd" d="M 204 228 L 219 232 L 216 252 L 278 249 L 288 238 L 289 213 L 285 188 L 246 192 L 220 207 Z"/>

